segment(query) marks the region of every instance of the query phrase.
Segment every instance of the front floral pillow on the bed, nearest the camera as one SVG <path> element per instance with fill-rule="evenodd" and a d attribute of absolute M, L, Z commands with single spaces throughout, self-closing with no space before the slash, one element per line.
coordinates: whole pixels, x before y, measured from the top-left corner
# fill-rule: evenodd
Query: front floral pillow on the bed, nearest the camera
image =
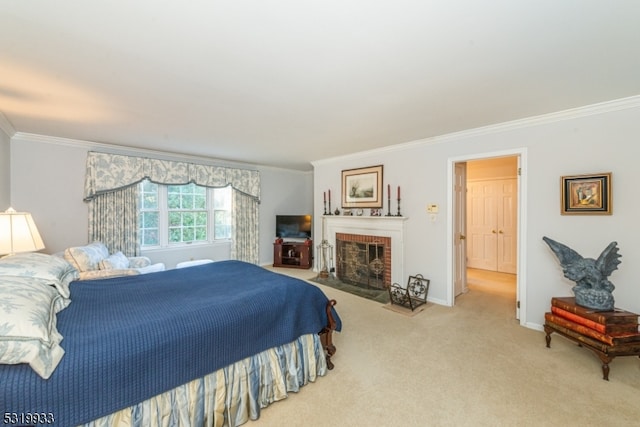
<path fill-rule="evenodd" d="M 64 350 L 56 313 L 69 304 L 47 282 L 29 277 L 0 277 L 0 363 L 28 363 L 49 378 Z"/>

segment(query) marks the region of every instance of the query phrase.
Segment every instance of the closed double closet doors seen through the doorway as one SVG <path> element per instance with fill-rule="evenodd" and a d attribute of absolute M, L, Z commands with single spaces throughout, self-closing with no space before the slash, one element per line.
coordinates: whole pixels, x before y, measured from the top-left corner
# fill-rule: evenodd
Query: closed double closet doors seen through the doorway
<path fill-rule="evenodd" d="M 515 274 L 517 180 L 468 182 L 467 207 L 467 266 Z"/>

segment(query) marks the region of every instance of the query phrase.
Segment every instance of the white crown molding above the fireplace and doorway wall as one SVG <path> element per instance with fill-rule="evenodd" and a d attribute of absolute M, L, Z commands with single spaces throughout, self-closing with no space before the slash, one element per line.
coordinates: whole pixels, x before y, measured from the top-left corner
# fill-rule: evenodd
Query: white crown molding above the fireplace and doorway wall
<path fill-rule="evenodd" d="M 385 153 L 403 151 L 410 148 L 420 147 L 426 144 L 441 144 L 445 142 L 457 141 L 465 138 L 471 138 L 482 135 L 496 134 L 516 129 L 540 126 L 544 124 L 556 123 L 565 120 L 574 120 L 582 117 L 593 116 L 596 114 L 611 113 L 614 111 L 627 110 L 631 108 L 640 108 L 640 95 L 630 96 L 627 98 L 616 99 L 612 101 L 601 102 L 598 104 L 587 105 L 584 107 L 571 108 L 555 113 L 542 114 L 539 116 L 527 117 L 524 119 L 512 120 L 509 122 L 498 123 L 495 125 L 482 126 L 479 128 L 463 130 L 460 132 L 452 132 L 445 135 L 433 136 L 429 138 L 419 139 L 401 144 L 389 145 L 386 147 L 376 148 L 373 150 L 361 151 L 355 154 L 345 156 L 331 157 L 327 159 L 314 160 L 311 162 L 313 166 L 332 163 L 338 160 L 354 159 L 361 157 L 369 157 L 371 155 L 381 155 Z"/>

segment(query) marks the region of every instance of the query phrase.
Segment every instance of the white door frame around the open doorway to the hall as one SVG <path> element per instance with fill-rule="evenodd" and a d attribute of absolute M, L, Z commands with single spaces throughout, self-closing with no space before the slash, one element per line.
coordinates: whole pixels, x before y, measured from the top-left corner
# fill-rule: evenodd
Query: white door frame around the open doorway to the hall
<path fill-rule="evenodd" d="M 455 305 L 455 268 L 457 263 L 463 262 L 466 267 L 466 259 L 457 259 L 455 256 L 454 239 L 455 239 L 455 216 L 454 197 L 455 197 L 455 164 L 467 162 L 469 160 L 485 160 L 495 157 L 517 157 L 518 159 L 518 213 L 517 213 L 517 239 L 518 239 L 518 260 L 516 262 L 516 318 L 520 320 L 521 325 L 527 323 L 527 272 L 526 272 L 526 230 L 527 230 L 527 149 L 516 148 L 504 151 L 488 151 L 483 153 L 468 154 L 457 157 L 450 157 L 447 160 L 447 208 L 449 215 L 447 216 L 447 305 L 453 307 Z"/>

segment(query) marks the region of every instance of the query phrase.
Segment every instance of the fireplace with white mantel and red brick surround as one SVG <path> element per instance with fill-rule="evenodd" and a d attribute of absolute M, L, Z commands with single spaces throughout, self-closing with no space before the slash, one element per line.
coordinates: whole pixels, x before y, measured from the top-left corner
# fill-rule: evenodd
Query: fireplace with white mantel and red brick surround
<path fill-rule="evenodd" d="M 362 251 L 364 254 L 360 259 L 364 263 L 374 262 L 374 269 L 378 271 L 383 268 L 384 273 L 380 279 L 381 283 L 367 282 L 370 288 L 384 288 L 386 284 L 404 283 L 404 224 L 406 217 L 371 217 L 371 216 L 336 216 L 325 215 L 322 217 L 322 238 L 333 246 L 336 273 L 341 267 L 338 258 L 337 242 L 347 240 L 359 246 L 359 249 L 352 247 L 353 251 Z M 345 239 L 346 238 L 346 239 Z M 366 249 L 366 246 L 370 249 Z M 384 246 L 384 250 L 380 247 Z M 366 259 L 366 254 L 368 259 Z M 382 265 L 375 265 L 380 261 L 375 258 L 382 256 Z M 353 261 L 353 260 L 352 260 Z M 353 272 L 352 272 L 353 274 Z M 364 273 L 363 273 L 364 274 Z M 369 273 L 367 273 L 369 274 Z M 376 276 L 374 272 L 373 276 Z M 374 277 L 375 278 L 375 277 Z"/>

